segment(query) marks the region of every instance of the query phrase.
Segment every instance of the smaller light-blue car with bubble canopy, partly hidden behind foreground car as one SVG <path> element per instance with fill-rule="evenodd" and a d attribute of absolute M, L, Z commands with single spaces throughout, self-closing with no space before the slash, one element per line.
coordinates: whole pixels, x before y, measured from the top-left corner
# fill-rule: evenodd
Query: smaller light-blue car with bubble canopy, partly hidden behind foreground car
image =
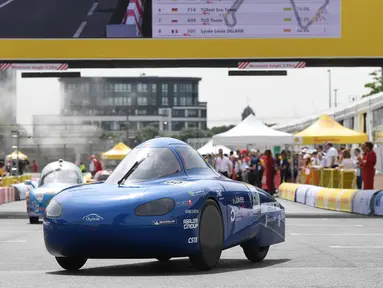
<path fill-rule="evenodd" d="M 32 181 L 25 181 L 25 184 L 33 187 L 26 195 L 29 223 L 39 222 L 49 201 L 59 191 L 80 183 L 83 183 L 81 170 L 75 164 L 61 159 L 44 167 L 37 185 Z"/>

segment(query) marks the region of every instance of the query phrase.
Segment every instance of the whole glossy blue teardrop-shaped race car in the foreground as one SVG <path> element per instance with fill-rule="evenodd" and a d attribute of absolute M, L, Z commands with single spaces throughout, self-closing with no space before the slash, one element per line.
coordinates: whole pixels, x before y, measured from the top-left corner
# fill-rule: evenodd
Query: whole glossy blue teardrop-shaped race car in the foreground
<path fill-rule="evenodd" d="M 285 241 L 285 211 L 267 192 L 211 168 L 182 141 L 133 149 L 105 183 L 61 191 L 44 216 L 44 240 L 67 270 L 87 259 L 189 257 L 213 268 L 241 245 L 252 262 Z"/>

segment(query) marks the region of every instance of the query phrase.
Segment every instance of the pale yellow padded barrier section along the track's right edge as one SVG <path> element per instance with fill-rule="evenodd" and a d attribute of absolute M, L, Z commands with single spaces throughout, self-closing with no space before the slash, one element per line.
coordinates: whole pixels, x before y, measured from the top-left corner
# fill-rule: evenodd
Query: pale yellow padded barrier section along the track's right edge
<path fill-rule="evenodd" d="M 319 191 L 316 196 L 316 207 L 334 211 L 352 212 L 352 200 L 356 192 L 357 190 L 325 188 Z"/>

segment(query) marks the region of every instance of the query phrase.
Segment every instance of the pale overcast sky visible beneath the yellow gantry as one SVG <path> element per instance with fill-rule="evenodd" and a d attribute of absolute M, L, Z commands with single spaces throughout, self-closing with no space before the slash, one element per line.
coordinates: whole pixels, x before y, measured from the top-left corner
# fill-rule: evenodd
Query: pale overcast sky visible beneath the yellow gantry
<path fill-rule="evenodd" d="M 228 69 L 113 69 L 83 70 L 86 76 L 184 76 L 201 77 L 199 98 L 208 102 L 208 126 L 237 124 L 246 105 L 265 122 L 328 111 L 329 68 L 289 70 L 281 77 L 229 77 Z M 361 97 L 364 84 L 375 68 L 332 68 L 332 88 L 338 89 L 338 105 Z M 59 85 L 56 79 L 21 79 L 18 76 L 18 122 L 32 124 L 32 115 L 58 114 Z"/>

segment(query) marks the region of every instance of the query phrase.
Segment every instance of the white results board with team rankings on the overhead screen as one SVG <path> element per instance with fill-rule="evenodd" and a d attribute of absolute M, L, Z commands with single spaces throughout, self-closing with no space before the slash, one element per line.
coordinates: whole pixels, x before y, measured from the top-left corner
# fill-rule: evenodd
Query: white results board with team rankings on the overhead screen
<path fill-rule="evenodd" d="M 341 0 L 153 0 L 153 38 L 339 38 Z"/>

